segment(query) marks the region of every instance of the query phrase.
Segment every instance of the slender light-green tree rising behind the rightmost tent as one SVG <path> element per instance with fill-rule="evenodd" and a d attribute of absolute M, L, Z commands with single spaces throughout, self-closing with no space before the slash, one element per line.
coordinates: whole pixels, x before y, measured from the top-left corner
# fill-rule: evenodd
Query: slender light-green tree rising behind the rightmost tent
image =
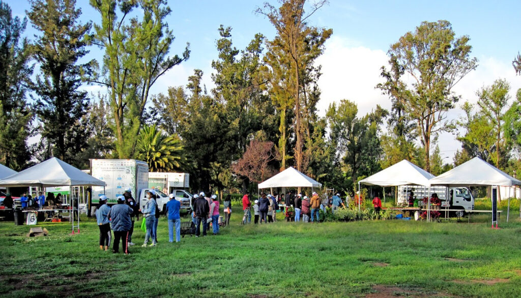
<path fill-rule="evenodd" d="M 500 168 L 501 150 L 504 146 L 505 114 L 510 100 L 510 84 L 506 80 L 496 80 L 491 86 L 483 87 L 476 92 L 480 114 L 490 122 L 492 136 L 495 141 L 495 154 L 492 160 Z"/>

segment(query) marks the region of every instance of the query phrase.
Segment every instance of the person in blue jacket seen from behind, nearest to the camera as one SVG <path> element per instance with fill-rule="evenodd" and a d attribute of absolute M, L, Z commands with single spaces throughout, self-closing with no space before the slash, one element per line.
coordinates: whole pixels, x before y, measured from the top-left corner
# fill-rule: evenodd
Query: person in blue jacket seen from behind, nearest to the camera
<path fill-rule="evenodd" d="M 127 244 L 130 227 L 132 226 L 130 219 L 132 213 L 134 213 L 134 210 L 125 204 L 125 197 L 120 195 L 118 196 L 118 204 L 112 206 L 107 214 L 107 217 L 110 218 L 110 227 L 114 231 L 112 252 L 115 254 L 119 252 L 119 240 L 121 240 L 123 252 L 126 255 L 130 253 Z"/>

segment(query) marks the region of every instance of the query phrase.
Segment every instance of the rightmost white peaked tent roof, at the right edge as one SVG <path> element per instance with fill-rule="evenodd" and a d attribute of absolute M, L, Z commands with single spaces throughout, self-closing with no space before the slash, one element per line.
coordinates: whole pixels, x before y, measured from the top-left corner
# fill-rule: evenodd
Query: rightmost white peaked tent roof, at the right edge
<path fill-rule="evenodd" d="M 474 157 L 468 162 L 442 173 L 430 180 L 431 185 L 480 186 L 480 185 L 521 185 L 521 181 L 485 162 Z"/>

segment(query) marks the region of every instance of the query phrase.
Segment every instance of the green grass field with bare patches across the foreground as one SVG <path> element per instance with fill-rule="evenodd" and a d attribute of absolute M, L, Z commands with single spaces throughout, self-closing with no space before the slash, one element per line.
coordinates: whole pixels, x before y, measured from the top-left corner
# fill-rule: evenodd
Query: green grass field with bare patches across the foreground
<path fill-rule="evenodd" d="M 238 208 L 236 208 L 238 209 Z M 168 243 L 159 222 L 156 247 L 131 255 L 102 252 L 94 219 L 81 233 L 69 223 L 0 222 L 1 296 L 521 297 L 521 221 L 490 215 L 472 222 L 381 220 L 318 225 L 279 221 L 239 225 L 218 236 Z M 188 219 L 183 219 L 188 220 Z M 142 244 L 144 233 L 134 233 Z"/>

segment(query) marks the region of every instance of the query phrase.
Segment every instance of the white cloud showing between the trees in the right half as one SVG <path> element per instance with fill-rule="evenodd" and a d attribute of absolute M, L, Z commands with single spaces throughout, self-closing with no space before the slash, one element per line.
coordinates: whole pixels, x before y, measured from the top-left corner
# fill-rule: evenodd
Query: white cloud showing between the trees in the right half
<path fill-rule="evenodd" d="M 462 95 L 457 108 L 448 113 L 448 119 L 461 116 L 459 108 L 466 100 L 476 103 L 476 91 L 482 86 L 491 85 L 496 79 L 506 79 L 511 84 L 510 94 L 515 98 L 517 89 L 521 88 L 521 77 L 515 75 L 511 61 L 499 61 L 494 57 L 480 57 L 478 68 L 470 72 L 454 87 L 454 92 Z M 375 86 L 383 82 L 380 68 L 388 65 L 386 51 L 370 49 L 356 41 L 333 36 L 326 42 L 324 54 L 317 59 L 322 66 L 322 76 L 318 82 L 322 91 L 318 102 L 319 115 L 324 116 L 332 102 L 342 99 L 354 101 L 358 105 L 359 116 L 363 116 L 376 107 L 390 109 L 391 102 L 387 95 L 381 94 Z M 442 156 L 452 157 L 461 148 L 460 142 L 450 133 L 442 133 L 438 140 Z"/>

